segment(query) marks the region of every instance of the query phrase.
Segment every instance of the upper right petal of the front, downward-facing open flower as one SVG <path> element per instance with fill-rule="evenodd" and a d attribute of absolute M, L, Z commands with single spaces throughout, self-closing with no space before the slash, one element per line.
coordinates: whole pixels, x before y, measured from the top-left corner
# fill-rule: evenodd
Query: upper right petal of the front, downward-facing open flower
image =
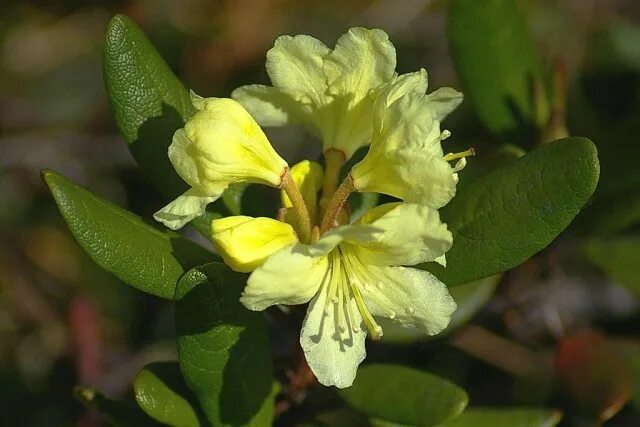
<path fill-rule="evenodd" d="M 436 261 L 453 242 L 438 211 L 424 205 L 389 203 L 376 206 L 358 223 L 384 230 L 374 241 L 351 246 L 364 264 L 415 265 Z"/>

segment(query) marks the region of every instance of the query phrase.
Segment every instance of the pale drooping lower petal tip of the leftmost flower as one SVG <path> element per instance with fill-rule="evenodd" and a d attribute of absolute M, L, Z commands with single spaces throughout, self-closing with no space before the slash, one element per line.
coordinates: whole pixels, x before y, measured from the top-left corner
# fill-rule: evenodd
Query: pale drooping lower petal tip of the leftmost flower
<path fill-rule="evenodd" d="M 184 227 L 192 219 L 202 215 L 207 205 L 218 199 L 224 188 L 219 188 L 217 193 L 202 193 L 191 188 L 185 191 L 177 199 L 153 214 L 153 218 L 169 227 L 177 230 Z"/>

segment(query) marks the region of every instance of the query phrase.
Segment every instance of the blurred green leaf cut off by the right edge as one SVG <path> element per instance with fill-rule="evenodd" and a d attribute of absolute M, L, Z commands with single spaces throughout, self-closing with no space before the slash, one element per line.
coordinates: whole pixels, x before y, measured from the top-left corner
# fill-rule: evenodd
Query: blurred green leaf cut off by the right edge
<path fill-rule="evenodd" d="M 640 298 L 640 237 L 590 239 L 583 252 L 594 265 Z"/>

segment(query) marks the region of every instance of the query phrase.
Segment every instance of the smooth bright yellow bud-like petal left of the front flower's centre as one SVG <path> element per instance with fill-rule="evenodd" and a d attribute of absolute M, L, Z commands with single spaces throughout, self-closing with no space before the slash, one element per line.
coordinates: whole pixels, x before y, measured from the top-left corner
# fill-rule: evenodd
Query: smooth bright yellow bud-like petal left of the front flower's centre
<path fill-rule="evenodd" d="M 213 243 L 225 264 L 243 273 L 298 242 L 291 225 L 272 218 L 229 216 L 211 222 Z"/>

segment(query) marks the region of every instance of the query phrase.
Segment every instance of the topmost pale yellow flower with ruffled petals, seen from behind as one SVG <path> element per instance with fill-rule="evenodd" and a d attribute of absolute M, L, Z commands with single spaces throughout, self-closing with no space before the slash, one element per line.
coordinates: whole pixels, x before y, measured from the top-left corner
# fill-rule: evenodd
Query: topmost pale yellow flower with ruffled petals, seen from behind
<path fill-rule="evenodd" d="M 324 151 L 349 158 L 369 144 L 376 89 L 395 67 L 396 50 L 379 29 L 351 28 L 333 50 L 307 35 L 281 36 L 267 53 L 273 86 L 243 86 L 232 97 L 261 125 L 307 125 Z"/>

